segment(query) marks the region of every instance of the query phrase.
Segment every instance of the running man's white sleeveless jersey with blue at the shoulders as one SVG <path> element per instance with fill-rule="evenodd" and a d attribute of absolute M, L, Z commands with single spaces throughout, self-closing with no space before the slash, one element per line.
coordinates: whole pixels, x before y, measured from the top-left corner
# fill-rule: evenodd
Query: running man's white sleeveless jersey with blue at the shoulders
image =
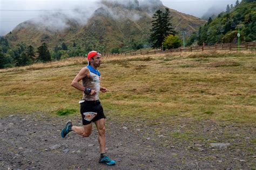
<path fill-rule="evenodd" d="M 90 70 L 90 77 L 85 77 L 82 79 L 82 84 L 84 87 L 89 87 L 91 90 L 95 90 L 96 94 L 93 96 L 86 95 L 83 92 L 83 100 L 95 101 L 99 100 L 99 90 L 100 90 L 100 72 L 95 70 L 92 66 L 88 65 L 87 68 Z"/>

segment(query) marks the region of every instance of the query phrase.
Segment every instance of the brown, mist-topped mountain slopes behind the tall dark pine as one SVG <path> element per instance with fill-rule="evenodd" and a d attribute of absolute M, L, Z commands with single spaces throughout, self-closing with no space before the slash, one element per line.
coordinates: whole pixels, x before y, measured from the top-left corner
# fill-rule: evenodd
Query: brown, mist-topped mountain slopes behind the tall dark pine
<path fill-rule="evenodd" d="M 38 47 L 45 42 L 51 49 L 63 42 L 69 46 L 75 42 L 78 46 L 85 47 L 87 51 L 110 51 L 113 47 L 129 49 L 132 43 L 147 44 L 153 12 L 157 9 L 164 10 L 166 7 L 159 0 L 151 0 L 146 4 L 139 4 L 138 1 L 129 2 L 102 2 L 85 25 L 62 13 L 46 15 L 42 17 L 41 22 L 31 19 L 19 24 L 5 37 L 12 45 L 23 42 Z M 186 30 L 192 33 L 205 23 L 197 17 L 176 10 L 171 10 L 171 16 L 173 27 L 178 32 Z M 61 23 L 64 25 L 63 28 L 52 28 L 53 26 L 49 24 L 54 24 L 52 18 L 64 22 Z"/>

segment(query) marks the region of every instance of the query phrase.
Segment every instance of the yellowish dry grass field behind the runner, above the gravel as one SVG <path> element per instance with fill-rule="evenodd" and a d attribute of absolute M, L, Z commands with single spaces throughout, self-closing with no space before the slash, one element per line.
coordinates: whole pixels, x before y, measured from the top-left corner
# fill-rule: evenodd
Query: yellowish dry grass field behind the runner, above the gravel
<path fill-rule="evenodd" d="M 0 115 L 79 114 L 71 81 L 84 58 L 0 70 Z M 170 53 L 104 58 L 105 112 L 146 124 L 173 117 L 256 124 L 256 53 Z M 118 115 L 118 117 L 117 117 Z"/>

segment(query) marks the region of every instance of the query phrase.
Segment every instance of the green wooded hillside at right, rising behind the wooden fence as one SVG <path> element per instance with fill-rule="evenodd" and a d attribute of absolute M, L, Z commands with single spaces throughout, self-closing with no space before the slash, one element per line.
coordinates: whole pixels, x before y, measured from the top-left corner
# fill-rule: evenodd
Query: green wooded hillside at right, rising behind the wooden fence
<path fill-rule="evenodd" d="M 256 40 L 256 1 L 243 0 L 230 11 L 222 12 L 213 21 L 192 34 L 190 42 L 198 40 L 199 45 L 214 43 L 237 43 L 238 30 L 241 42 Z"/>

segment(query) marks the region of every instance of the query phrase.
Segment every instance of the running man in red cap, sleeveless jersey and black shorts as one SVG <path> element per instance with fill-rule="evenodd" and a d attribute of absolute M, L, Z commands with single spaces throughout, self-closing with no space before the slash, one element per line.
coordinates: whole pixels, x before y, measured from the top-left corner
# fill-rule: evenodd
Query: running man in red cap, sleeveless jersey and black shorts
<path fill-rule="evenodd" d="M 98 130 L 98 141 L 100 146 L 99 163 L 114 165 L 116 161 L 111 160 L 105 155 L 106 136 L 105 136 L 105 115 L 103 107 L 99 101 L 99 92 L 105 93 L 107 89 L 100 87 L 100 73 L 97 67 L 100 66 L 101 55 L 96 51 L 91 51 L 87 55 L 88 65 L 83 67 L 73 79 L 71 86 L 83 91 L 83 99 L 80 103 L 80 113 L 82 114 L 83 126 L 73 126 L 69 120 L 62 130 L 62 138 L 74 131 L 83 137 L 89 137 L 92 132 L 92 123 L 95 123 Z M 82 85 L 79 81 L 82 80 Z"/>

